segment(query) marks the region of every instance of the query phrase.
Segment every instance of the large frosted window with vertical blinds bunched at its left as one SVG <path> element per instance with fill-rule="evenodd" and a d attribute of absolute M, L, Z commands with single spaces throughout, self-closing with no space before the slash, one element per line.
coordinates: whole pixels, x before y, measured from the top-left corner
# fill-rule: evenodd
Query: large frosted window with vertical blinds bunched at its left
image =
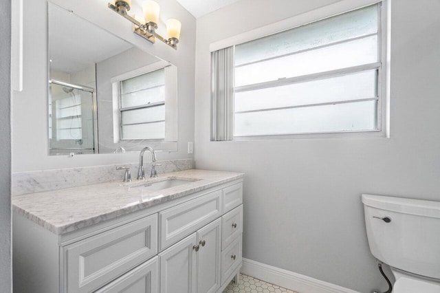
<path fill-rule="evenodd" d="M 212 140 L 382 130 L 381 4 L 212 52 Z"/>

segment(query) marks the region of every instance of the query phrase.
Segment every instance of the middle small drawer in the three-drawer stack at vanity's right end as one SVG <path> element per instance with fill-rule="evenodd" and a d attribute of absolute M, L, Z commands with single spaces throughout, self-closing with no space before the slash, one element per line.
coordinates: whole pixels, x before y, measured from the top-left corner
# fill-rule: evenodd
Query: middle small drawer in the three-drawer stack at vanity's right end
<path fill-rule="evenodd" d="M 243 232 L 243 204 L 223 215 L 221 221 L 221 248 L 225 249 Z"/>

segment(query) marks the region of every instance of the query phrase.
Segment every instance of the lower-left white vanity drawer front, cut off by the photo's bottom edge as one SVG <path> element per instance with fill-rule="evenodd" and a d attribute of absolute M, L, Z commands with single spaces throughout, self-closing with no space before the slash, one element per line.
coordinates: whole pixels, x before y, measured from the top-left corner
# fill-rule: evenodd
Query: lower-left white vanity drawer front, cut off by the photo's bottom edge
<path fill-rule="evenodd" d="M 159 287 L 159 261 L 154 257 L 146 263 L 105 285 L 96 293 L 156 293 Z"/>

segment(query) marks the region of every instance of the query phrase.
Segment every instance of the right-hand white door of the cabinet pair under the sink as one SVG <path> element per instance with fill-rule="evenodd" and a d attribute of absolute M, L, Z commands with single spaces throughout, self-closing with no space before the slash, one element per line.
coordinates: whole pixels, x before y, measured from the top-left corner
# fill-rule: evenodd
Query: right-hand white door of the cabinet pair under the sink
<path fill-rule="evenodd" d="M 216 292 L 221 285 L 221 219 L 197 231 L 197 293 Z"/>

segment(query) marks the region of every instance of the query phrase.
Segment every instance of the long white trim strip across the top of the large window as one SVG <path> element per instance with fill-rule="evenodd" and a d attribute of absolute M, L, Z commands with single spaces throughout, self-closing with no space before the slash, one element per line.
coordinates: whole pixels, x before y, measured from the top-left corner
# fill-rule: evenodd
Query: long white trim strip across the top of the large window
<path fill-rule="evenodd" d="M 300 25 L 305 25 L 307 23 L 319 21 L 320 19 L 326 19 L 328 17 L 333 17 L 335 15 L 349 12 L 351 10 L 359 9 L 364 6 L 369 6 L 382 0 L 342 0 L 328 6 L 323 6 L 303 14 L 294 15 L 289 19 L 283 21 L 278 21 L 276 23 L 271 23 L 269 25 L 263 25 L 260 28 L 250 30 L 248 32 L 243 32 L 236 36 L 231 36 L 228 39 L 223 39 L 210 44 L 210 52 L 221 50 L 225 47 L 231 47 L 233 45 L 238 45 L 254 39 L 262 38 L 270 34 L 276 34 L 277 32 L 283 32 L 284 30 L 289 30 L 291 28 L 296 28 Z"/>

